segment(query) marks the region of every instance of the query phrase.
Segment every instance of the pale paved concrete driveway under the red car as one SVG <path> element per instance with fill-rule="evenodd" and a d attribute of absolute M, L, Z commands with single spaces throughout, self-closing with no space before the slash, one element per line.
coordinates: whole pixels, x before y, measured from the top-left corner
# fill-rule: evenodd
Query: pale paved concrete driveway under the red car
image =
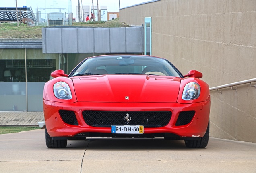
<path fill-rule="evenodd" d="M 1 173 L 256 173 L 256 144 L 210 138 L 205 149 L 184 141 L 88 138 L 48 149 L 44 129 L 0 135 Z"/>

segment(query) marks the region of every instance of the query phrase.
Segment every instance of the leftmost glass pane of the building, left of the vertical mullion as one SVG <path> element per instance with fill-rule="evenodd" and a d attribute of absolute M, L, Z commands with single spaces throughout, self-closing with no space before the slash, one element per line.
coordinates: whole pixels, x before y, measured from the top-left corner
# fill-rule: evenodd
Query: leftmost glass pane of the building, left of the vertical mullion
<path fill-rule="evenodd" d="M 0 49 L 0 111 L 26 111 L 25 50 Z"/>

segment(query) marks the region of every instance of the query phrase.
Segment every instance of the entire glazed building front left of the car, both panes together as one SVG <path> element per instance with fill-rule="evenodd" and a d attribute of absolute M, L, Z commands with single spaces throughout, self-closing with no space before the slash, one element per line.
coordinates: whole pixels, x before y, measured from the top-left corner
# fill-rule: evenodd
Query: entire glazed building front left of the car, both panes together
<path fill-rule="evenodd" d="M 59 55 L 41 49 L 0 49 L 0 111 L 43 111 L 43 87 L 56 64 Z"/>

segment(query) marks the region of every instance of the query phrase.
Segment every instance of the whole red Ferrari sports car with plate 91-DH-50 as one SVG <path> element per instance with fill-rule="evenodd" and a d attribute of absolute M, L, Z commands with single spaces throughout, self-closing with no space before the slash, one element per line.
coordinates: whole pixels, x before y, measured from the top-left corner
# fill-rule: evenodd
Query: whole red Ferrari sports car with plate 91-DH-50
<path fill-rule="evenodd" d="M 210 92 L 191 70 L 143 55 L 86 58 L 67 75 L 52 72 L 43 110 L 49 148 L 86 137 L 163 137 L 204 148 L 209 139 Z"/>

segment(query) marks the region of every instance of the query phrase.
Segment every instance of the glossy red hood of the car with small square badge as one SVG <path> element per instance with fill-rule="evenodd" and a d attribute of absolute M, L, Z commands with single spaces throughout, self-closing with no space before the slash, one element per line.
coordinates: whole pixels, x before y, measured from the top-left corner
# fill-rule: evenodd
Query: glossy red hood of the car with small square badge
<path fill-rule="evenodd" d="M 180 78 L 151 75 L 73 77 L 77 101 L 176 102 Z"/>

